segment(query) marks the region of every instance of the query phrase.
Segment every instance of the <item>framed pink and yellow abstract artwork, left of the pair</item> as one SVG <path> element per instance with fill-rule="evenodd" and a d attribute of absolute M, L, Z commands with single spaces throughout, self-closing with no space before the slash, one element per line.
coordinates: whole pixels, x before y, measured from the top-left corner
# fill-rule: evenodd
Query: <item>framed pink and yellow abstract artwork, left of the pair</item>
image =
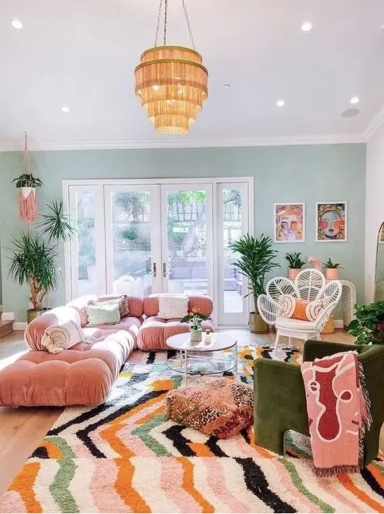
<path fill-rule="evenodd" d="M 274 242 L 303 243 L 306 240 L 305 203 L 274 203 Z"/>

